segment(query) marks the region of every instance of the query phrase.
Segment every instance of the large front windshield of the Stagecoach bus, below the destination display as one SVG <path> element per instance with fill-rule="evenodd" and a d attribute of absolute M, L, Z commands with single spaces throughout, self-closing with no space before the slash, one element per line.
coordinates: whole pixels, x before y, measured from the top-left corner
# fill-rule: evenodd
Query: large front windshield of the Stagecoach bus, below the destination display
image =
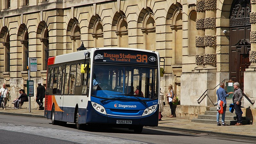
<path fill-rule="evenodd" d="M 157 67 L 94 65 L 92 96 L 157 99 Z"/>

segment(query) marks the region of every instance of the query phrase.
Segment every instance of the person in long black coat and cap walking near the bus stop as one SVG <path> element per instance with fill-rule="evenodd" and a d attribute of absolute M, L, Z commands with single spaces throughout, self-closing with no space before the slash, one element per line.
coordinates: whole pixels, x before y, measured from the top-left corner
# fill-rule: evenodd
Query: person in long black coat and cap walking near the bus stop
<path fill-rule="evenodd" d="M 36 103 L 39 105 L 39 110 L 43 110 L 43 99 L 45 98 L 45 88 L 41 85 L 41 82 L 37 83 L 38 87 L 36 88 Z"/>

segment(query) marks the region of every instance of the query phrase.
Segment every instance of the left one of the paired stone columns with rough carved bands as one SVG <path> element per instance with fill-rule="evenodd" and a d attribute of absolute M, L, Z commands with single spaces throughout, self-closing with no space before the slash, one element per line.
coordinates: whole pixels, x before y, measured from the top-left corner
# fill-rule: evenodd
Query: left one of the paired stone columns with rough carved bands
<path fill-rule="evenodd" d="M 196 68 L 195 70 L 203 69 L 204 65 L 204 0 L 196 1 Z"/>

